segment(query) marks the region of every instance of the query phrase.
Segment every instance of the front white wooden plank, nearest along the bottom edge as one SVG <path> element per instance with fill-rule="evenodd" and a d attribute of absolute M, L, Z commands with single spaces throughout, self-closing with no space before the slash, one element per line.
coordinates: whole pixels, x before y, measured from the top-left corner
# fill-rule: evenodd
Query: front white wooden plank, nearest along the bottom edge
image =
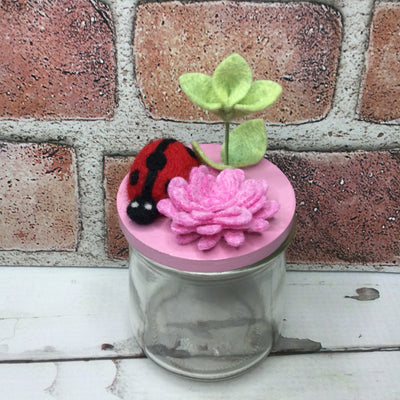
<path fill-rule="evenodd" d="M 2 399 L 394 400 L 400 352 L 268 357 L 233 380 L 175 376 L 147 359 L 0 364 Z"/>

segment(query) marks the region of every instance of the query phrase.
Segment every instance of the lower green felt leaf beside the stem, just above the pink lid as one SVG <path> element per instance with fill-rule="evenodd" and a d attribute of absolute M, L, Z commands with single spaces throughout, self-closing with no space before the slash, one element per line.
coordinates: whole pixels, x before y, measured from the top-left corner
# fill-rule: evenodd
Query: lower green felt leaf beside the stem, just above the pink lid
<path fill-rule="evenodd" d="M 229 165 L 245 167 L 258 163 L 267 150 L 267 135 L 262 119 L 243 122 L 229 135 Z M 221 158 L 226 160 L 226 143 Z"/>

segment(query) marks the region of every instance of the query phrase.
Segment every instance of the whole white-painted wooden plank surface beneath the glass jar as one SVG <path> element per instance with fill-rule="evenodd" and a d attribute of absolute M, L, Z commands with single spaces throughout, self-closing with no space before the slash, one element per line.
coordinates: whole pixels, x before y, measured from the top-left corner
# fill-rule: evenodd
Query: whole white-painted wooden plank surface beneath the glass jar
<path fill-rule="evenodd" d="M 400 274 L 289 272 L 282 333 L 322 352 L 270 356 L 218 383 L 136 358 L 127 278 L 126 269 L 0 268 L 0 399 L 400 399 Z M 361 287 L 380 297 L 345 297 Z"/>

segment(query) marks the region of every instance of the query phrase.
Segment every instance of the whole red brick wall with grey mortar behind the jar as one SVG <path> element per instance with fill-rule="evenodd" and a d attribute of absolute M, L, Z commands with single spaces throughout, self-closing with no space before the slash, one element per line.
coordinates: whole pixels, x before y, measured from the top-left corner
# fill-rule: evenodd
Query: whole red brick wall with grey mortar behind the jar
<path fill-rule="evenodd" d="M 400 2 L 0 3 L 0 265 L 121 266 L 115 196 L 150 139 L 222 142 L 177 78 L 232 52 L 292 181 L 292 268 L 400 265 Z M 193 123 L 195 122 L 195 123 Z"/>

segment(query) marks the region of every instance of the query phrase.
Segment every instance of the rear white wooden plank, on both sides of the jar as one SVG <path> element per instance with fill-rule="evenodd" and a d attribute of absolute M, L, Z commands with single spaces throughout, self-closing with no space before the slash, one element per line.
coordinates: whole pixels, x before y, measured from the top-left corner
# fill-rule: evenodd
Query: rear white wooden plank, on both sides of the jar
<path fill-rule="evenodd" d="M 400 274 L 287 275 L 284 336 L 326 350 L 400 347 Z M 380 297 L 345 297 L 360 287 Z M 0 360 L 140 356 L 128 312 L 127 269 L 0 268 Z"/>

